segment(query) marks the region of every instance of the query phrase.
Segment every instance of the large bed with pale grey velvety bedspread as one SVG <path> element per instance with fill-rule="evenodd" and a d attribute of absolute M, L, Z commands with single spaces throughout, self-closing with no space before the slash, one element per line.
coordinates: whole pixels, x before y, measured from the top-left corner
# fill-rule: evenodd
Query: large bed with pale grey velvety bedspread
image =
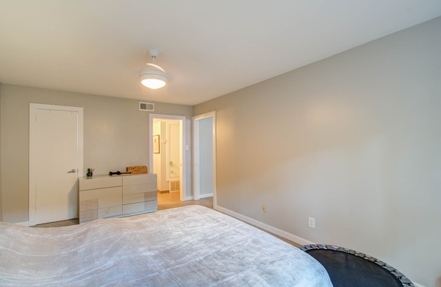
<path fill-rule="evenodd" d="M 332 286 L 302 250 L 183 206 L 58 228 L 0 223 L 0 286 Z"/>

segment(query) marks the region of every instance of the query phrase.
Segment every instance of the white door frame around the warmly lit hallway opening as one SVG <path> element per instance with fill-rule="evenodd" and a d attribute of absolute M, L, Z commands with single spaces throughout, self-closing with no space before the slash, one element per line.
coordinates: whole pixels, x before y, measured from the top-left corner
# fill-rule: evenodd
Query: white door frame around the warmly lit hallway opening
<path fill-rule="evenodd" d="M 191 198 L 185 197 L 187 194 L 186 186 L 187 186 L 187 178 L 185 177 L 187 168 L 187 155 L 185 150 L 188 149 L 188 146 L 185 142 L 186 134 L 186 118 L 185 116 L 176 116 L 176 115 L 161 115 L 161 114 L 150 114 L 149 115 L 149 170 L 153 170 L 153 120 L 154 119 L 170 119 L 170 120 L 178 120 L 179 121 L 179 150 L 181 150 L 180 160 L 181 160 L 181 169 L 179 171 L 179 177 L 181 180 L 179 181 L 179 199 L 181 201 L 189 200 Z"/>

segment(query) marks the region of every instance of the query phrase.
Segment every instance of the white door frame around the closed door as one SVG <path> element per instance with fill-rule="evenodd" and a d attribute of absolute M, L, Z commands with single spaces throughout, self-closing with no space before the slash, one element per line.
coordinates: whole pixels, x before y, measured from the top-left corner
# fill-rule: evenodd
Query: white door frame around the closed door
<path fill-rule="evenodd" d="M 71 106 L 55 106 L 43 103 L 29 103 L 29 216 L 28 225 L 34 226 L 36 222 L 37 199 L 37 110 L 63 110 L 78 112 L 78 177 L 83 175 L 83 108 Z"/>

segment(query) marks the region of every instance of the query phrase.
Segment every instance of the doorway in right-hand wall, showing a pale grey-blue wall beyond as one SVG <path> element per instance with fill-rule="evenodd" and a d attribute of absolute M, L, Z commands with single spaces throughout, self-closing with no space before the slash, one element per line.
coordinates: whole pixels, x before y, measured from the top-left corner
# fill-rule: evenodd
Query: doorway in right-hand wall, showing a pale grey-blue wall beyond
<path fill-rule="evenodd" d="M 216 112 L 193 117 L 194 200 L 216 198 Z"/>

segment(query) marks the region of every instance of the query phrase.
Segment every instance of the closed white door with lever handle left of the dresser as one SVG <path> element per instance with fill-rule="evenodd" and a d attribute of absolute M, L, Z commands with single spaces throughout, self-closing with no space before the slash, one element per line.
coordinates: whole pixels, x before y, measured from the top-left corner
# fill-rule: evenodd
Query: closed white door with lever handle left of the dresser
<path fill-rule="evenodd" d="M 83 109 L 31 104 L 30 225 L 78 217 Z"/>

